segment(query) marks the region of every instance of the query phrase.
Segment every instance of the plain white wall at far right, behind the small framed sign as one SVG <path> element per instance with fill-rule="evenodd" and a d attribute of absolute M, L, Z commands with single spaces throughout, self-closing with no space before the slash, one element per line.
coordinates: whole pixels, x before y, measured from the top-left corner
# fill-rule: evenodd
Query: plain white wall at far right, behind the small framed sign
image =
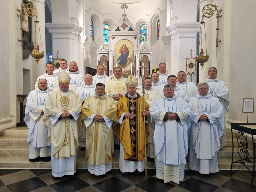
<path fill-rule="evenodd" d="M 233 0 L 230 15 L 230 58 L 229 90 L 230 107 L 228 118 L 247 121 L 247 113 L 242 113 L 242 99 L 255 98 L 255 50 L 256 50 L 256 1 Z M 225 76 L 225 74 L 224 74 Z M 255 100 L 256 102 L 256 100 Z M 249 114 L 249 122 L 256 122 L 256 110 Z"/>

